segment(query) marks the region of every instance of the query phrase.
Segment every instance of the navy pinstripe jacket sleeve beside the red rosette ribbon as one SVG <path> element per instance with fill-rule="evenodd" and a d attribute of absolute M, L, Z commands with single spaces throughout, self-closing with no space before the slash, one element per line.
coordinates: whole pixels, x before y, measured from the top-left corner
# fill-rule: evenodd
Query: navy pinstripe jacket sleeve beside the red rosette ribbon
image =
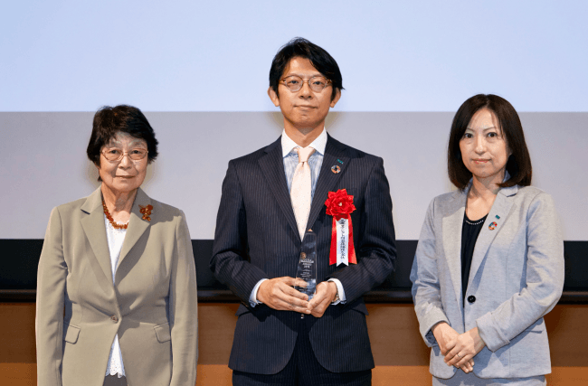
<path fill-rule="evenodd" d="M 390 186 L 384 174 L 384 160 L 377 158 L 368 177 L 361 221 L 354 223 L 357 264 L 333 273 L 343 285 L 346 303 L 350 304 L 380 285 L 394 270 L 396 246 Z M 357 237 L 356 237 L 357 235 Z"/>

